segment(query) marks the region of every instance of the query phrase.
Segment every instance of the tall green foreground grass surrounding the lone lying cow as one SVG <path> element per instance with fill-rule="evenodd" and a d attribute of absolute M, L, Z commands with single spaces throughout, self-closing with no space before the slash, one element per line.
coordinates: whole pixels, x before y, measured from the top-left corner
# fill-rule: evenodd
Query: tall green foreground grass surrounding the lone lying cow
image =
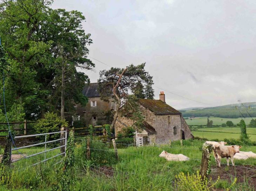
<path fill-rule="evenodd" d="M 192 147 L 193 142 L 193 147 Z M 169 145 L 161 145 L 161 147 L 144 146 L 144 147 L 128 147 L 126 149 L 118 149 L 119 162 L 112 164 L 112 170 L 108 171 L 96 171 L 100 170 L 95 166 L 88 171 L 88 162 L 86 160 L 86 154 L 83 152 L 83 148 L 77 146 L 75 148 L 75 158 L 77 159 L 73 168 L 72 177 L 73 184 L 70 184 L 70 190 L 88 190 L 88 191 L 167 191 L 175 189 L 174 181 L 175 175 L 180 172 L 187 174 L 196 173 L 200 169 L 202 151 L 202 144 L 204 141 L 200 140 L 183 140 L 183 147 L 180 145 L 180 141 L 173 141 L 172 148 Z M 43 151 L 43 147 L 26 148 L 21 149 L 22 154 L 33 154 Z M 184 154 L 190 157 L 190 161 L 177 162 L 167 161 L 158 155 L 166 150 L 172 154 Z M 252 151 L 256 153 L 256 147 L 243 146 L 243 151 Z M 113 151 L 113 149 L 112 149 Z M 110 152 L 112 152 L 110 151 Z M 13 152 L 16 154 L 15 152 Z M 49 152 L 47 157 L 60 153 L 59 149 Z M 44 159 L 44 154 L 34 157 L 34 161 Z M 44 180 L 40 179 L 40 176 L 35 171 L 34 167 L 25 168 L 18 171 L 23 167 L 31 164 L 28 159 L 21 160 L 14 163 L 13 167 L 13 185 L 15 188 L 10 190 L 54 190 L 55 185 L 58 185 L 61 181 L 61 169 L 62 164 L 53 164 L 61 159 L 61 156 L 57 159 L 49 160 L 46 165 L 42 164 L 42 174 Z M 211 156 L 212 166 L 216 166 L 215 159 Z M 222 163 L 226 163 L 225 159 L 221 160 Z M 251 165 L 256 166 L 256 159 L 248 159 L 246 161 L 235 161 L 236 165 Z M 108 166 L 108 164 L 106 164 Z M 222 164 L 224 168 L 224 164 Z M 36 166 L 39 170 L 40 166 Z M 238 167 L 237 167 L 238 168 Z M 112 173 L 112 174 L 111 174 Z M 213 173 L 213 172 L 212 172 Z M 107 174 L 108 176 L 104 175 Z M 246 178 L 246 177 L 245 177 Z M 238 187 L 237 187 L 238 188 Z M 242 187 L 241 187 L 242 188 Z M 7 190 L 5 186 L 0 187 L 0 190 Z M 245 190 L 245 189 L 244 189 Z"/>

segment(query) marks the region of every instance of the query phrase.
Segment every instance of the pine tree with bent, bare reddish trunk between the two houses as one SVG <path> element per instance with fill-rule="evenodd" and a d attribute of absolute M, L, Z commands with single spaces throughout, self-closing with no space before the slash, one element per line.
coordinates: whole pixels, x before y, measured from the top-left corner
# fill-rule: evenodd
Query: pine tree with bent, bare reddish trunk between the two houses
<path fill-rule="evenodd" d="M 113 94 L 117 101 L 110 131 L 112 131 L 117 115 L 123 105 L 127 105 L 127 108 L 133 110 L 134 115 L 137 115 L 136 117 L 133 115 L 133 117 L 139 118 L 141 123 L 141 113 L 136 110 L 136 99 L 154 97 L 153 89 L 150 88 L 153 85 L 153 80 L 148 72 L 145 71 L 145 64 L 143 63 L 138 66 L 132 64 L 126 68 L 112 67 L 108 71 L 100 71 L 98 83 L 101 99 L 109 101 L 109 96 Z M 132 93 L 134 96 L 129 96 L 129 93 Z"/>

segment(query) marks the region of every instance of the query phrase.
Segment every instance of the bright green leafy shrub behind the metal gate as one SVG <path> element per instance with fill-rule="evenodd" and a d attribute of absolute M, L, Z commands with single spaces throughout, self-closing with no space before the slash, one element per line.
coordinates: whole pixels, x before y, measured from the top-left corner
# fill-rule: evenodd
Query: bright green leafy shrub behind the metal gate
<path fill-rule="evenodd" d="M 58 132 L 61 129 L 61 126 L 68 126 L 68 123 L 62 120 L 60 117 L 57 116 L 57 113 L 46 113 L 45 119 L 39 119 L 39 123 L 37 123 L 34 128 L 36 134 L 41 133 L 52 133 Z M 37 137 L 40 142 L 45 142 L 45 136 Z M 46 136 L 47 141 L 55 140 L 60 138 L 60 134 L 50 134 Z"/>

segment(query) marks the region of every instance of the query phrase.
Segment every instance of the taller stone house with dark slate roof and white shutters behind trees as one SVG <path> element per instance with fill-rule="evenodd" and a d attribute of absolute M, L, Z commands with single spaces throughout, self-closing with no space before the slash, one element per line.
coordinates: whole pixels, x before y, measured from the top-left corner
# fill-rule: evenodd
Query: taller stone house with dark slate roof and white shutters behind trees
<path fill-rule="evenodd" d="M 82 107 L 81 104 L 76 104 L 77 116 L 73 120 L 80 120 L 84 118 L 86 125 L 98 125 L 99 123 L 109 124 L 106 113 L 110 110 L 115 110 L 115 100 L 109 96 L 109 102 L 105 102 L 100 99 L 100 92 L 97 90 L 98 83 L 90 83 L 89 86 L 83 88 L 82 94 L 89 98 L 89 102 L 86 107 Z"/>

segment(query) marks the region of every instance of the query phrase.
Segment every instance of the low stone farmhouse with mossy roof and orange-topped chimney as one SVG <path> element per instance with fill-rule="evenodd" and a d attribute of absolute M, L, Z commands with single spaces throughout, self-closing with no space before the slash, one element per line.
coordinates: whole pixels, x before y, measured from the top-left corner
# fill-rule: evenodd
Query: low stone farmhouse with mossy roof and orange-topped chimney
<path fill-rule="evenodd" d="M 150 144 L 153 138 L 156 144 L 194 138 L 181 112 L 166 104 L 163 92 L 159 96 L 160 100 L 139 100 L 140 111 L 145 116 L 144 130 L 137 132 L 135 137 L 147 136 Z M 119 116 L 115 123 L 115 134 L 117 135 L 124 126 L 132 126 L 132 124 L 132 120 Z"/>

